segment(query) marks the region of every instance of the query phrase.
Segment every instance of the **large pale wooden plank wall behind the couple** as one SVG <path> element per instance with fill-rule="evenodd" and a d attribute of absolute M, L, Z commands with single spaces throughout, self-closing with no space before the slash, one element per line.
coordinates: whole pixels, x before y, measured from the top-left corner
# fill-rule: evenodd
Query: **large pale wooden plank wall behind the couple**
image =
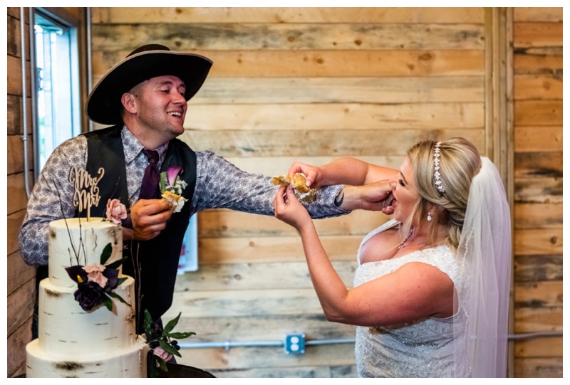
<path fill-rule="evenodd" d="M 212 72 L 185 134 L 238 167 L 283 174 L 339 156 L 399 167 L 419 139 L 464 136 L 484 153 L 484 9 L 93 8 L 93 81 L 145 43 L 199 53 Z M 296 233 L 275 218 L 199 213 L 199 270 L 181 275 L 168 316 L 187 342 L 353 338 L 323 319 Z M 347 285 L 361 238 L 386 218 L 318 221 Z M 220 377 L 350 377 L 353 344 L 185 349 Z"/>

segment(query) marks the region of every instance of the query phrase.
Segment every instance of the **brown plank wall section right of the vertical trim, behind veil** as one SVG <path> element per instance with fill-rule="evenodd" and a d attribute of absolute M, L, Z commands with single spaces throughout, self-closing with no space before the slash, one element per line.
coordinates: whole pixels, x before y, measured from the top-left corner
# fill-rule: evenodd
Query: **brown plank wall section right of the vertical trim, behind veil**
<path fill-rule="evenodd" d="M 562 9 L 515 8 L 514 328 L 562 331 Z M 514 375 L 561 377 L 562 337 L 514 344 Z"/>

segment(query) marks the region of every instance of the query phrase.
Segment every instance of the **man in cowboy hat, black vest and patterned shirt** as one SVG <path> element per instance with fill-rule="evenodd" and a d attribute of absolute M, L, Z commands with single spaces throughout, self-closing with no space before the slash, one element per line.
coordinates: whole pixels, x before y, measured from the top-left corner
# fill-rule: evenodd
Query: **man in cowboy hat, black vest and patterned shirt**
<path fill-rule="evenodd" d="M 110 127 L 69 139 L 48 159 L 28 201 L 19 235 L 26 263 L 48 264 L 49 222 L 81 215 L 72 204 L 73 186 L 66 182 L 71 167 L 81 167 L 91 175 L 103 167 L 101 201 L 120 199 L 128 208 L 123 255 L 130 261 L 123 263 L 123 273 L 136 279 L 139 309 L 149 310 L 153 320 L 159 320 L 172 305 L 190 216 L 214 208 L 274 215 L 277 186 L 271 178 L 243 172 L 213 152 L 195 152 L 177 139 L 184 132 L 187 101 L 198 92 L 211 66 L 212 61 L 203 56 L 150 44 L 137 48 L 101 78 L 88 97 L 86 110 L 90 120 Z M 186 184 L 182 196 L 187 202 L 177 213 L 160 199 L 157 181 L 152 181 L 172 167 L 181 167 L 178 176 Z M 319 190 L 317 200 L 308 206 L 311 216 L 338 216 L 356 209 L 356 205 L 335 206 L 342 190 L 343 186 Z M 91 215 L 104 217 L 104 205 L 94 207 Z M 42 278 L 40 273 L 38 278 Z M 139 317 L 138 332 L 142 332 L 141 321 Z"/>

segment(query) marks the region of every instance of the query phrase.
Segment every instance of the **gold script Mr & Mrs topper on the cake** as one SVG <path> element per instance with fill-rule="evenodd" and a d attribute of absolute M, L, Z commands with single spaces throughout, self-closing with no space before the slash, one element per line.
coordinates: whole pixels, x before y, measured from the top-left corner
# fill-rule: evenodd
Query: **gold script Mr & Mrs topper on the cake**
<path fill-rule="evenodd" d="M 78 212 L 87 210 L 87 221 L 90 218 L 91 206 L 98 206 L 101 196 L 99 195 L 99 187 L 97 184 L 103 178 L 105 169 L 100 167 L 98 169 L 98 177 L 90 176 L 85 169 L 81 167 L 71 167 L 69 169 L 68 181 L 73 184 L 75 191 L 73 191 L 73 207 L 76 207 Z"/>

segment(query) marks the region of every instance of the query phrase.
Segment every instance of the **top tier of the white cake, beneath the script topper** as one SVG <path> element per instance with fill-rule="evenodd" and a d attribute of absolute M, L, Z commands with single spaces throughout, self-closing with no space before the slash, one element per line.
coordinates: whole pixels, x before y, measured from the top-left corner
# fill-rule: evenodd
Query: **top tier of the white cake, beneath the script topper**
<path fill-rule="evenodd" d="M 123 229 L 111 221 L 103 221 L 103 218 L 90 218 L 90 221 L 87 218 L 68 218 L 49 223 L 48 270 L 51 285 L 76 287 L 65 269 L 72 265 L 100 263 L 101 254 L 109 243 L 113 251 L 105 264 L 123 258 Z"/>

